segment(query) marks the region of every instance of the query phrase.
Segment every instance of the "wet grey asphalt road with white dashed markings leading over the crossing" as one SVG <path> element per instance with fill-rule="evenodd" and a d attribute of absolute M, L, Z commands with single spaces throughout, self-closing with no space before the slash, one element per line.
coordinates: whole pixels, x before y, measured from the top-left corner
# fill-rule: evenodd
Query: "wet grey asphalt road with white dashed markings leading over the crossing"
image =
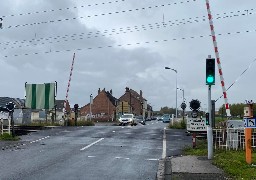
<path fill-rule="evenodd" d="M 184 131 L 166 126 L 149 121 L 31 133 L 12 145 L 0 143 L 0 179 L 155 179 L 159 159 L 178 155 L 190 142 Z"/>

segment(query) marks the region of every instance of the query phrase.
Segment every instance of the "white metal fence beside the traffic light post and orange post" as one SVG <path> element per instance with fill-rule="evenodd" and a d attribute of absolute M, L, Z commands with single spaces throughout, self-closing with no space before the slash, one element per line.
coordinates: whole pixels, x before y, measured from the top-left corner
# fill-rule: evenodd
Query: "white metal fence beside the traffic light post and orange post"
<path fill-rule="evenodd" d="M 245 149 L 244 127 L 213 129 L 215 149 L 239 150 Z M 256 148 L 256 132 L 252 133 L 252 148 Z"/>

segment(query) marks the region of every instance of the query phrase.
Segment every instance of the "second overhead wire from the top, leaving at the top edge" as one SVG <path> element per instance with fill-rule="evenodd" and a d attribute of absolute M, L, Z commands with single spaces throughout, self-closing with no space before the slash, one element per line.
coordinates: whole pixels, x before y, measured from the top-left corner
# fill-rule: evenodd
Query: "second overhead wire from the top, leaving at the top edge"
<path fill-rule="evenodd" d="M 42 25 L 42 24 L 48 24 L 48 23 L 66 22 L 66 21 L 71 21 L 71 20 L 86 19 L 86 18 L 113 15 L 113 14 L 119 14 L 119 13 L 129 13 L 129 12 L 135 12 L 135 11 L 140 11 L 140 10 L 148 10 L 148 9 L 153 9 L 153 8 L 160 8 L 160 7 L 165 7 L 165 6 L 183 4 L 183 3 L 186 3 L 186 2 L 189 3 L 189 2 L 192 2 L 192 1 L 194 2 L 194 1 L 197 1 L 197 0 L 187 0 L 187 1 L 181 1 L 181 2 L 162 4 L 162 5 L 154 5 L 154 6 L 142 7 L 142 8 L 136 8 L 136 9 L 122 10 L 122 11 L 115 11 L 115 12 L 108 12 L 108 13 L 101 13 L 101 14 L 94 14 L 94 15 L 87 15 L 87 16 L 80 16 L 80 17 L 73 17 L 73 18 L 65 18 L 65 19 L 58 19 L 58 20 L 49 20 L 49 21 L 41 21 L 41 22 L 34 22 L 34 23 L 27 23 L 27 24 L 11 25 L 11 26 L 7 26 L 4 29 L 20 28 L 20 27 L 26 27 L 26 26 L 35 26 L 35 25 Z"/>

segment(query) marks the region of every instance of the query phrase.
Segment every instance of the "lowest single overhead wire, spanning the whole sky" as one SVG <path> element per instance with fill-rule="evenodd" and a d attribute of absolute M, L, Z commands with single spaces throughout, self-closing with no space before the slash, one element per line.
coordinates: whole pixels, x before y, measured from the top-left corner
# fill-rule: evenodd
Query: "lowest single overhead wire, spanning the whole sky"
<path fill-rule="evenodd" d="M 235 35 L 235 34 L 242 34 L 242 33 L 251 33 L 256 32 L 254 30 L 247 30 L 247 31 L 237 31 L 237 32 L 228 32 L 228 33 L 219 33 L 216 34 L 218 36 L 223 35 Z M 204 38 L 204 37 L 211 37 L 211 35 L 199 35 L 199 36 L 190 36 L 190 37 L 181 37 L 181 38 L 173 38 L 173 39 L 164 39 L 164 40 L 154 40 L 154 41 L 145 41 L 145 42 L 137 42 L 137 43 L 127 43 L 127 44 L 118 44 L 118 45 L 108 45 L 108 46 L 98 46 L 98 47 L 87 47 L 87 48 L 77 48 L 77 49 L 67 49 L 67 50 L 49 50 L 45 52 L 34 52 L 34 53 L 24 53 L 24 54 L 14 54 L 14 55 L 4 55 L 3 57 L 18 57 L 18 56 L 28 56 L 28 55 L 38 55 L 38 54 L 49 54 L 49 53 L 61 53 L 61 52 L 70 52 L 70 51 L 82 51 L 82 50 L 92 50 L 92 49 L 102 49 L 102 48 L 113 48 L 113 47 L 123 47 L 123 46 L 132 46 L 132 45 L 143 45 L 143 44 L 153 44 L 153 43 L 162 43 L 162 42 L 169 42 L 169 41 L 177 41 L 177 40 L 189 40 L 189 39 L 197 39 L 197 38 Z"/>

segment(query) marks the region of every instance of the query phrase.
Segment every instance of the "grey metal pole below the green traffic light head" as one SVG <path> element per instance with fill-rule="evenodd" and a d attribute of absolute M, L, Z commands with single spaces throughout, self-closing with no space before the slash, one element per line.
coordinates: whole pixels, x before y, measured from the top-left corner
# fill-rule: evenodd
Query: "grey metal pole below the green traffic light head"
<path fill-rule="evenodd" d="M 208 113 L 209 113 L 209 126 L 207 126 L 208 159 L 212 159 L 213 158 L 213 133 L 212 133 L 211 85 L 208 86 Z"/>

